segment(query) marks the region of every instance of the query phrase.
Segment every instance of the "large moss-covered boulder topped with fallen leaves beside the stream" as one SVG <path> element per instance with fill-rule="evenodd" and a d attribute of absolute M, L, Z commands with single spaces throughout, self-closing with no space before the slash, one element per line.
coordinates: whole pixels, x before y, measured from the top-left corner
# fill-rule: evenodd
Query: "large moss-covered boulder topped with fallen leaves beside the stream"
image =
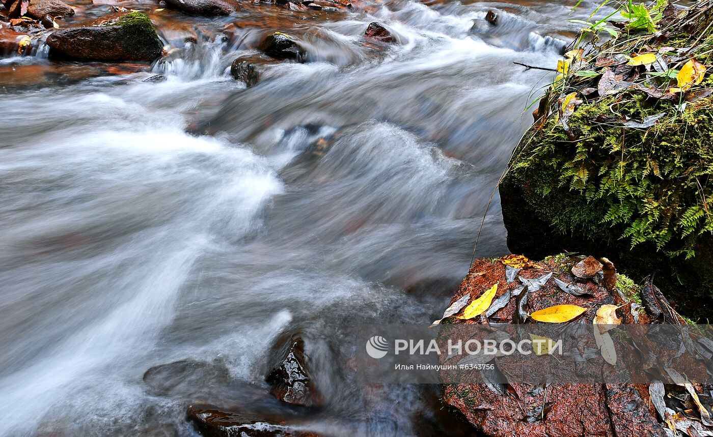
<path fill-rule="evenodd" d="M 700 11 L 673 12 L 658 33 L 563 60 L 570 71 L 560 68 L 566 74 L 540 100 L 500 195 L 511 251 L 607 256 L 637 280 L 655 275 L 681 312 L 706 320 L 713 304 L 713 79 L 702 73 L 683 93 L 674 88 L 691 58 L 713 61 L 705 50 L 688 49 L 694 40 L 713 43 L 711 15 Z M 687 19 L 694 14 L 704 19 Z M 630 65 L 649 52 L 658 65 Z M 671 78 L 657 73 L 661 65 Z"/>

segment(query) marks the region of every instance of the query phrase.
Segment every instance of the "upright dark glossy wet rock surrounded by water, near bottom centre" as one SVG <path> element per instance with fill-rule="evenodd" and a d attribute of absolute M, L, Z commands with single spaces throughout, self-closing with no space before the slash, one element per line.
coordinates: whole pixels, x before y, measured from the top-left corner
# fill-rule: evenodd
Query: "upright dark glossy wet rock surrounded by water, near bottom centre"
<path fill-rule="evenodd" d="M 277 359 L 265 380 L 272 386 L 270 392 L 288 404 L 316 406 L 320 404 L 314 383 L 309 375 L 304 339 L 299 334 L 283 335 L 272 356 Z"/>

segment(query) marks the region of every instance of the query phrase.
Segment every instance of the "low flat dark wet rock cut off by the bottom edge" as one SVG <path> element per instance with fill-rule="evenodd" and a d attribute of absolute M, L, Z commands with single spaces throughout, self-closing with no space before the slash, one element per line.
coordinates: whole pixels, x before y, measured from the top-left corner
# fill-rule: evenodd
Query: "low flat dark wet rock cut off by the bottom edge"
<path fill-rule="evenodd" d="M 205 437 L 319 437 L 295 430 L 284 419 L 227 411 L 209 404 L 190 405 L 186 415 Z"/>

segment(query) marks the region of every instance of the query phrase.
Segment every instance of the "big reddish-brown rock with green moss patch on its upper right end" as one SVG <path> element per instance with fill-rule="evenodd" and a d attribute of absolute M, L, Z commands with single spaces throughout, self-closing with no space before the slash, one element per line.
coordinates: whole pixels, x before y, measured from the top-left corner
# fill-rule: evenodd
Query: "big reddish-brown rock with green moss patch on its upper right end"
<path fill-rule="evenodd" d="M 83 60 L 154 60 L 163 53 L 156 29 L 140 12 L 112 14 L 92 26 L 66 28 L 47 38 L 51 56 Z"/>

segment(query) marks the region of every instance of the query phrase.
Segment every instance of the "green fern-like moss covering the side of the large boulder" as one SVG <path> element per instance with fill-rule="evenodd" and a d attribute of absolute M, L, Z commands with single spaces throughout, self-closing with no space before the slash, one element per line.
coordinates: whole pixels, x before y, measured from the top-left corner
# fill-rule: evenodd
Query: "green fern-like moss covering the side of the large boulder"
<path fill-rule="evenodd" d="M 511 172 L 526 175 L 533 206 L 547 210 L 560 233 L 593 236 L 611 228 L 609 241 L 649 241 L 670 258 L 692 258 L 697 237 L 713 233 L 712 101 L 689 104 L 682 114 L 674 106 L 650 104 L 641 94 L 584 103 L 569 119 L 575 140 L 550 117 L 525 137 Z M 649 130 L 603 118 L 661 112 L 665 117 Z"/>

